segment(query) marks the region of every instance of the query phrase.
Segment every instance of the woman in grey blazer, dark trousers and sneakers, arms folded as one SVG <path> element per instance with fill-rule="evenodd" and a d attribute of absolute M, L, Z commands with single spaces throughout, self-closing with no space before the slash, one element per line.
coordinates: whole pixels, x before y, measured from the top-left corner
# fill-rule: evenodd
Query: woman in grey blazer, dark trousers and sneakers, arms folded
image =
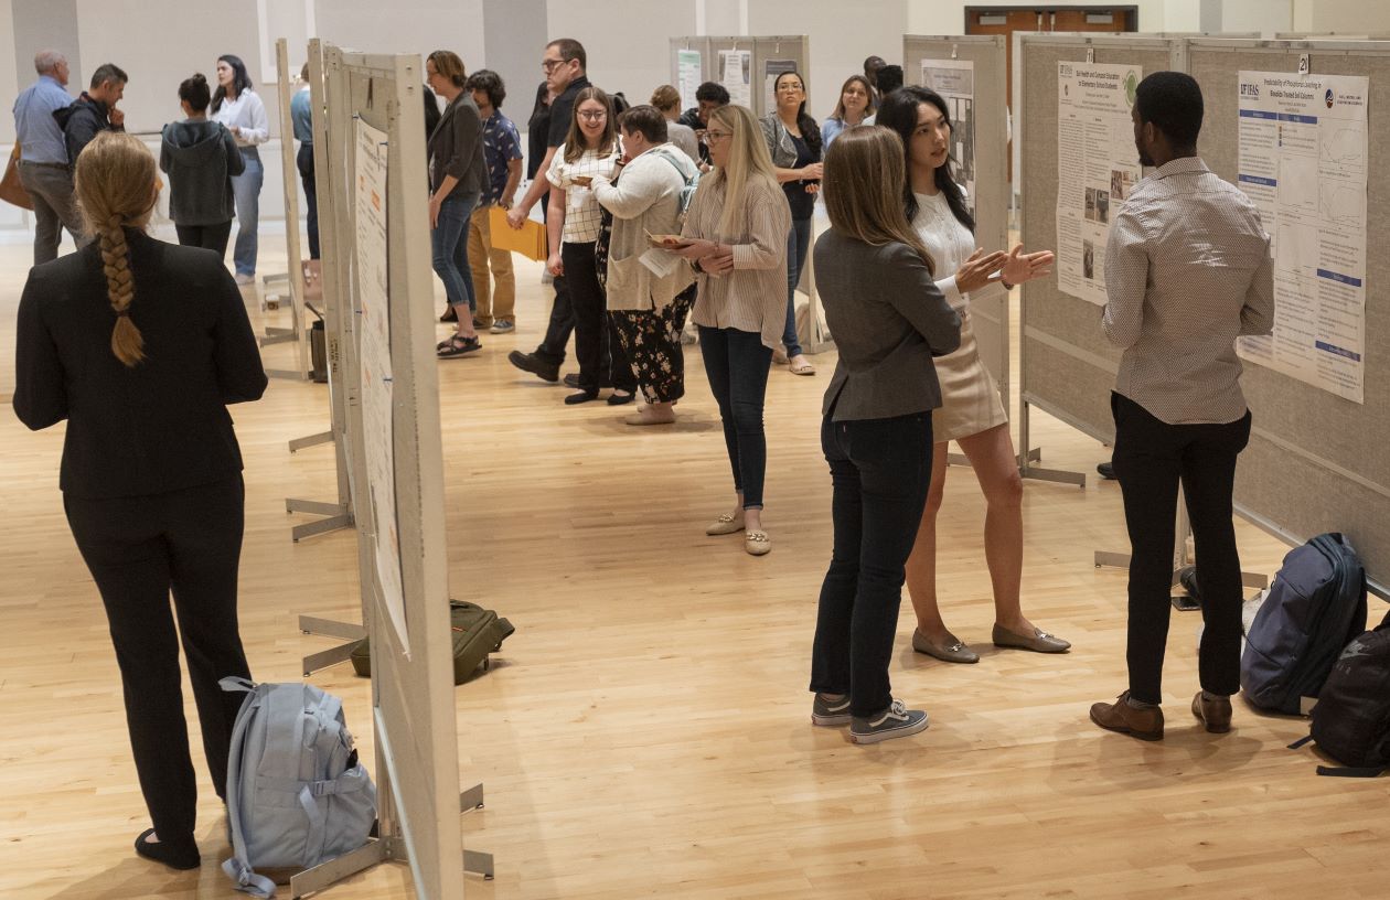
<path fill-rule="evenodd" d="M 941 406 L 933 358 L 960 343 L 960 318 L 903 214 L 902 179 L 894 132 L 840 135 L 826 156 L 830 231 L 815 250 L 840 362 L 821 407 L 835 539 L 820 589 L 810 718 L 849 725 L 855 743 L 927 726 L 926 712 L 894 700 L 888 661 L 931 476 L 931 411 Z"/>

